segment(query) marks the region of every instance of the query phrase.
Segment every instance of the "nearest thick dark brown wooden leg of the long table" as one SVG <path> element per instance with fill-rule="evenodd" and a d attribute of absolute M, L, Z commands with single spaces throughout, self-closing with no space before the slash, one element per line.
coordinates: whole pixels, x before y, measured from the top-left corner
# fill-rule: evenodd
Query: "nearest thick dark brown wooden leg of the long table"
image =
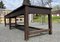
<path fill-rule="evenodd" d="M 25 6 L 25 14 L 24 14 L 24 28 L 25 28 L 25 40 L 29 39 L 29 18 L 28 18 L 28 10 L 27 10 L 28 6 Z"/>

